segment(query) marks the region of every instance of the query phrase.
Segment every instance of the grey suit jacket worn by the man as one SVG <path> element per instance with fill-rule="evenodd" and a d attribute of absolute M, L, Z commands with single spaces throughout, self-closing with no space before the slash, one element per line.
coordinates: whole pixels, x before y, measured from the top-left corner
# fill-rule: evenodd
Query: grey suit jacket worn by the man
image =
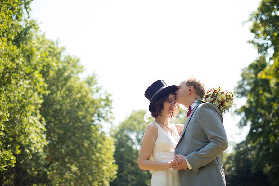
<path fill-rule="evenodd" d="M 179 170 L 181 186 L 225 186 L 223 151 L 227 135 L 219 109 L 211 103 L 198 104 L 184 124 L 175 154 L 186 156 L 192 169 Z"/>

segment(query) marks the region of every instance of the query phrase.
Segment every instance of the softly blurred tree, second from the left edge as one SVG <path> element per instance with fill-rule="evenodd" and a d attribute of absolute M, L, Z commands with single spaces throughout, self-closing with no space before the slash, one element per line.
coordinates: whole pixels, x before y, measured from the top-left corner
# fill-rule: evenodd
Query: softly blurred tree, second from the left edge
<path fill-rule="evenodd" d="M 47 51 L 43 59 L 55 61 L 42 71 L 49 91 L 41 108 L 49 142 L 49 181 L 53 185 L 108 185 L 117 167 L 113 140 L 100 132 L 99 123 L 111 118 L 110 95 L 97 85 L 95 76 L 80 81 L 79 59 L 65 56 L 61 60 L 63 50 L 43 37 L 38 46 Z"/>

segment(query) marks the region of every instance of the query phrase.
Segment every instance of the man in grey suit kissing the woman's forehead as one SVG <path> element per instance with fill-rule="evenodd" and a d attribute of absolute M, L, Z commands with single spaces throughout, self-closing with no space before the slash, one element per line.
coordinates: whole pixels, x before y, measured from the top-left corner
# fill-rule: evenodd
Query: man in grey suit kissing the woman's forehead
<path fill-rule="evenodd" d="M 227 149 L 227 135 L 219 109 L 211 103 L 199 103 L 205 86 L 189 78 L 178 86 L 176 101 L 188 107 L 187 121 L 170 163 L 179 170 L 181 186 L 226 186 L 223 151 Z"/>

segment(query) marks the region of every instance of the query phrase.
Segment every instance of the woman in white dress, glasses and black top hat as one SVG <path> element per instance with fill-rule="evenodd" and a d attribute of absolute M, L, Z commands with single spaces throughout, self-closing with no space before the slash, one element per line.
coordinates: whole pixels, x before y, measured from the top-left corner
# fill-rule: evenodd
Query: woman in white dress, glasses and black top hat
<path fill-rule="evenodd" d="M 177 89 L 175 85 L 167 86 L 163 80 L 158 80 L 145 92 L 145 97 L 150 100 L 149 111 L 155 121 L 146 127 L 138 166 L 142 170 L 153 170 L 151 186 L 180 186 L 178 170 L 171 168 L 170 161 L 174 158 L 183 125 L 168 122 L 179 112 L 174 94 Z"/>

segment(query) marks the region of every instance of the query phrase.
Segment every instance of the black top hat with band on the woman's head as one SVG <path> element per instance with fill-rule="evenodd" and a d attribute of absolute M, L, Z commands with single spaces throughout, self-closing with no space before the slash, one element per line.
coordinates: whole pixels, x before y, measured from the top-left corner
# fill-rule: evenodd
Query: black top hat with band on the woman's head
<path fill-rule="evenodd" d="M 163 80 L 157 80 L 152 83 L 152 85 L 149 86 L 144 93 L 144 96 L 150 101 L 149 111 L 151 112 L 155 109 L 154 103 L 156 100 L 171 92 L 175 92 L 177 89 L 176 85 L 167 86 Z"/>

